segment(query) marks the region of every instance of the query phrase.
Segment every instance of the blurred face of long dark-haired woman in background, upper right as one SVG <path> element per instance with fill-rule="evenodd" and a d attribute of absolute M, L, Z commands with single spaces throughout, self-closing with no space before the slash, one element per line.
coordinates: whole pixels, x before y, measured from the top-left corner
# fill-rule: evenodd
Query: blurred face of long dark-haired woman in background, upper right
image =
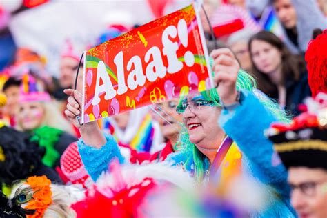
<path fill-rule="evenodd" d="M 281 52 L 270 43 L 255 39 L 250 46 L 252 61 L 257 69 L 269 75 L 281 66 Z"/>

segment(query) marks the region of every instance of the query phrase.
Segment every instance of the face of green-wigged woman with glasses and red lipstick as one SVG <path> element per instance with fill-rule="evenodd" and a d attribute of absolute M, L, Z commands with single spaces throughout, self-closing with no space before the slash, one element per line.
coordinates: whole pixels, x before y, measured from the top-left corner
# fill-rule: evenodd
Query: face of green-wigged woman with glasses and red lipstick
<path fill-rule="evenodd" d="M 189 95 L 184 99 L 183 119 L 188 130 L 190 142 L 199 150 L 219 147 L 223 130 L 218 126 L 221 109 L 213 106 L 199 94 Z"/>

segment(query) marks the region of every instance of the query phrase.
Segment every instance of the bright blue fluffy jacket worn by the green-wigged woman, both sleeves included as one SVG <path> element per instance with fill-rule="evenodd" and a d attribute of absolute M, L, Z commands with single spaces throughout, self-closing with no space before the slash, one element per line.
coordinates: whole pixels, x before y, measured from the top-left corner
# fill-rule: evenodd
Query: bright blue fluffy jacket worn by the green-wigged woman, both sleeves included
<path fill-rule="evenodd" d="M 244 173 L 254 177 L 265 188 L 270 199 L 268 206 L 257 211 L 251 217 L 296 217 L 295 211 L 290 206 L 289 187 L 287 184 L 287 171 L 281 164 L 277 153 L 273 150 L 273 143 L 264 137 L 264 130 L 276 118 L 261 105 L 252 92 L 242 91 L 244 100 L 232 112 L 222 110 L 219 125 L 226 134 L 239 146 L 242 152 L 242 167 Z M 108 164 L 117 158 L 120 163 L 124 159 L 119 151 L 117 142 L 112 136 L 106 136 L 107 143 L 101 148 L 86 146 L 79 140 L 79 153 L 88 174 L 97 180 L 101 172 L 108 170 Z M 187 164 L 186 170 L 192 172 L 194 163 L 192 152 L 175 153 L 166 161 L 172 165 Z M 206 160 L 206 168 L 209 161 Z"/>

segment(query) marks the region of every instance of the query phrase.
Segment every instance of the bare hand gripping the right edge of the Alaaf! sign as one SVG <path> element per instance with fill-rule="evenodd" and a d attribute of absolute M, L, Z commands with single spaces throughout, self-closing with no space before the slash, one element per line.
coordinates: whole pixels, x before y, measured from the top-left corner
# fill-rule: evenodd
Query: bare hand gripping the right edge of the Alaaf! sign
<path fill-rule="evenodd" d="M 210 56 L 214 59 L 212 70 L 215 72 L 215 76 L 213 80 L 221 101 L 225 105 L 235 103 L 239 62 L 228 48 L 213 50 Z"/>

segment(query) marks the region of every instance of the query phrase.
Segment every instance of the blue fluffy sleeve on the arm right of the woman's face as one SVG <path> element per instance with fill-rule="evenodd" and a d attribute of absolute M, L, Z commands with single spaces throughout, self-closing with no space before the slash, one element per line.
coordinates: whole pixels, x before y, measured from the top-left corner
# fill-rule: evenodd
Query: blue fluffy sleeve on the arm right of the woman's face
<path fill-rule="evenodd" d="M 264 136 L 264 130 L 277 119 L 252 94 L 242 90 L 244 100 L 235 110 L 222 110 L 219 124 L 239 146 L 247 170 L 264 184 L 275 186 L 279 192 L 288 189 L 287 171 Z"/>

